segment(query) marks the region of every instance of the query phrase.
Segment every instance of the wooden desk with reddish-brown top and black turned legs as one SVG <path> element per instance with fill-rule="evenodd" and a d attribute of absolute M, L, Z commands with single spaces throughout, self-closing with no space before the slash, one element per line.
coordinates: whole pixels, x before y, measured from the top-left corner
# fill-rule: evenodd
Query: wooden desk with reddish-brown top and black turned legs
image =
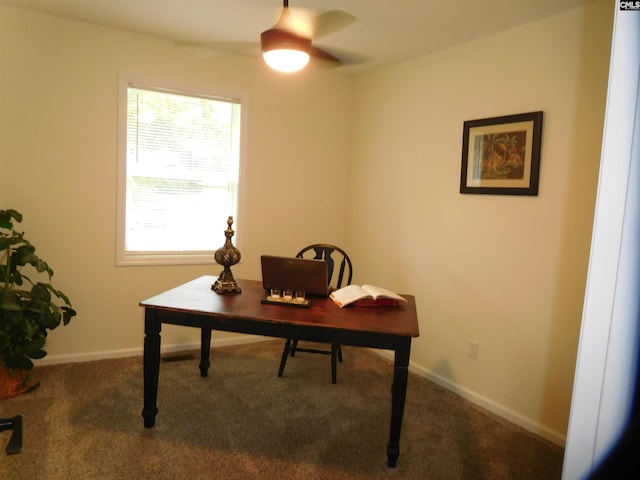
<path fill-rule="evenodd" d="M 201 330 L 200 374 L 207 376 L 211 330 L 299 338 L 324 343 L 381 348 L 395 352 L 391 387 L 391 428 L 387 465 L 400 454 L 400 431 L 407 392 L 411 339 L 418 336 L 413 296 L 398 308 L 338 308 L 328 298 L 314 298 L 311 308 L 264 305 L 261 282 L 238 280 L 242 293 L 211 290 L 215 276 L 203 276 L 140 303 L 144 314 L 144 426 L 152 428 L 158 413 L 160 330 L 163 323 Z M 274 381 L 276 380 L 274 370 Z"/>

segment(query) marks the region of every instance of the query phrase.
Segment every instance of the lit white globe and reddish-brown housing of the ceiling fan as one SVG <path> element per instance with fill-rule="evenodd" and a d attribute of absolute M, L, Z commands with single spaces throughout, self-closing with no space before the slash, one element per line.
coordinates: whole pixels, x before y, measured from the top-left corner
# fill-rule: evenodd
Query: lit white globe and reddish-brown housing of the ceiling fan
<path fill-rule="evenodd" d="M 297 72 L 309 63 L 311 40 L 280 28 L 260 35 L 262 57 L 269 67 L 279 72 Z"/>

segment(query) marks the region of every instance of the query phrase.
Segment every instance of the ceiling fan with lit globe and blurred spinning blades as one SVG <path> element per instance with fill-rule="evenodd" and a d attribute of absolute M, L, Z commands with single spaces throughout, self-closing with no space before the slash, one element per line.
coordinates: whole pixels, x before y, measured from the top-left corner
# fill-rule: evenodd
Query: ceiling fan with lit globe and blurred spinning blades
<path fill-rule="evenodd" d="M 283 0 L 278 22 L 260 34 L 263 58 L 267 65 L 281 72 L 301 70 L 311 57 L 339 66 L 342 61 L 313 45 L 312 37 L 335 32 L 353 21 L 355 17 L 352 15 L 342 10 L 332 10 L 314 17 L 308 24 L 296 19 L 289 10 L 289 0 Z"/>

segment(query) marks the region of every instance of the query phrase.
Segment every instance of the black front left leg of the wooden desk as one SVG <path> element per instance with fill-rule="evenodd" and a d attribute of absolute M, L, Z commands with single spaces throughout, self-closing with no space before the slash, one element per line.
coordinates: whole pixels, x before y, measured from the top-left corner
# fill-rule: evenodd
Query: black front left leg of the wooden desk
<path fill-rule="evenodd" d="M 160 329 L 162 323 L 158 312 L 147 308 L 144 311 L 144 426 L 152 428 L 158 414 L 158 375 L 160 373 Z"/>

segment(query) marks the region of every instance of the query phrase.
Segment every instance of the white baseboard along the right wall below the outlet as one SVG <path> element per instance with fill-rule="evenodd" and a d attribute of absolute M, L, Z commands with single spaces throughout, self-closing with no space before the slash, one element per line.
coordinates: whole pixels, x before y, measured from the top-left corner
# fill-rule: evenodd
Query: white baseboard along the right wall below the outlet
<path fill-rule="evenodd" d="M 393 353 L 390 351 L 375 350 L 375 349 L 372 349 L 372 351 L 375 353 L 378 353 L 379 355 L 382 355 L 383 357 L 389 358 L 393 361 Z M 525 430 L 535 433 L 536 435 L 544 438 L 545 440 L 548 440 L 561 447 L 565 446 L 567 437 L 566 435 L 563 435 L 560 432 L 557 432 L 548 427 L 545 427 L 544 425 L 540 425 L 538 422 L 535 422 L 530 418 L 527 418 L 517 412 L 514 412 L 513 410 L 505 407 L 504 405 L 501 405 L 499 403 L 494 402 L 493 400 L 483 397 L 482 395 L 479 395 L 478 393 L 472 390 L 469 390 L 468 388 L 461 387 L 457 383 L 454 383 L 446 378 L 443 378 L 440 375 L 433 373 L 431 370 L 428 370 L 423 366 L 418 365 L 414 362 L 409 363 L 409 370 L 415 373 L 416 375 L 426 378 L 432 381 L 433 383 L 440 385 L 441 387 L 446 388 L 447 390 L 452 391 L 453 393 L 455 393 L 456 395 L 459 395 L 465 400 L 469 400 L 470 402 L 475 403 L 476 405 L 484 408 L 485 410 L 488 410 L 491 413 L 494 413 L 499 417 L 502 417 L 505 420 L 508 420 L 509 422 L 524 428 Z"/>

